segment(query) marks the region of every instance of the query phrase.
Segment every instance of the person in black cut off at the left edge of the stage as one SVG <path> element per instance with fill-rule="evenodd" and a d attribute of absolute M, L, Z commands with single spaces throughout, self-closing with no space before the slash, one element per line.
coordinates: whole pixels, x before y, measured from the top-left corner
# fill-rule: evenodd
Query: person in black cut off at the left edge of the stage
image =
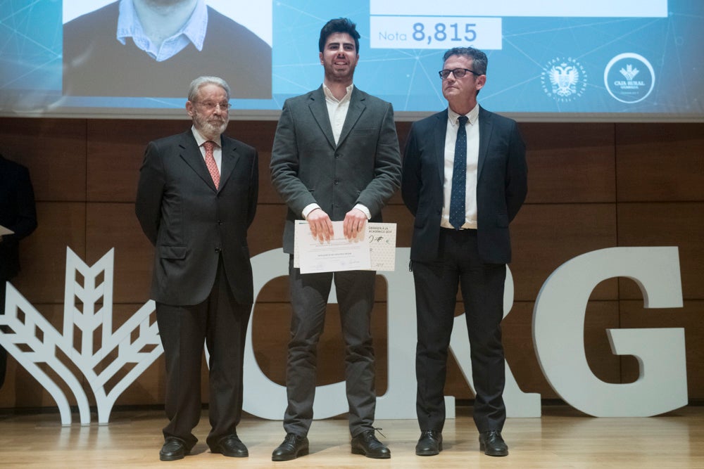
<path fill-rule="evenodd" d="M 7 281 L 20 272 L 20 240 L 37 229 L 34 190 L 27 168 L 0 155 L 0 314 L 5 314 Z M 0 387 L 5 383 L 7 351 L 0 347 Z"/>

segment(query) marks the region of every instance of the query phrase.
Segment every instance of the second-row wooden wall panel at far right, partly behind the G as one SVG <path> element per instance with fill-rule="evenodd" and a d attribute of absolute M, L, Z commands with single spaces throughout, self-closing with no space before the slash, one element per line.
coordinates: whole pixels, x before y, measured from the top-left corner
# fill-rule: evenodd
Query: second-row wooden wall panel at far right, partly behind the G
<path fill-rule="evenodd" d="M 682 295 L 704 299 L 704 203 L 620 203 L 618 233 L 620 246 L 677 246 Z M 631 281 L 620 285 L 623 299 L 642 297 Z"/>

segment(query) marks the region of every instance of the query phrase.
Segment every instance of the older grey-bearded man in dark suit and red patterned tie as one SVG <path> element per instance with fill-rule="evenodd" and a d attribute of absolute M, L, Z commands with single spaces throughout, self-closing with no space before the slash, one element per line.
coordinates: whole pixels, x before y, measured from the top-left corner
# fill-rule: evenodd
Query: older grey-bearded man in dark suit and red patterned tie
<path fill-rule="evenodd" d="M 201 416 L 203 340 L 210 352 L 213 453 L 248 456 L 237 437 L 244 344 L 253 303 L 247 229 L 256 211 L 258 154 L 222 134 L 230 87 L 218 77 L 191 83 L 193 126 L 152 141 L 139 174 L 136 212 L 155 246 L 151 298 L 166 362 L 162 461 L 196 443 Z"/>

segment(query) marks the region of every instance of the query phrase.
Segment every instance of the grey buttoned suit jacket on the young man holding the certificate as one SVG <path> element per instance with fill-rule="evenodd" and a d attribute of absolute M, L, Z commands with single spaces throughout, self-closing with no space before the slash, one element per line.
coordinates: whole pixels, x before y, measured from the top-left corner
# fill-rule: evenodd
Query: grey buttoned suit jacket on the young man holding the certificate
<path fill-rule="evenodd" d="M 318 203 L 332 221 L 356 204 L 371 221 L 401 182 L 401 155 L 390 103 L 353 88 L 347 117 L 335 144 L 322 86 L 289 98 L 279 118 L 271 155 L 272 183 L 289 206 L 284 252 L 294 252 L 294 220 Z"/>

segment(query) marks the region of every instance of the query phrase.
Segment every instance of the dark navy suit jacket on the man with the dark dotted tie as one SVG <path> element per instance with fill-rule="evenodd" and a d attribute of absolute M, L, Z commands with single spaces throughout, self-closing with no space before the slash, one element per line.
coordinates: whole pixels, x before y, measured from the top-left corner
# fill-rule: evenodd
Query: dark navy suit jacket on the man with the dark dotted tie
<path fill-rule="evenodd" d="M 403 202 L 415 217 L 410 259 L 438 260 L 447 110 L 411 126 L 403 158 Z M 508 224 L 527 194 L 525 145 L 514 120 L 479 108 L 477 243 L 482 261 L 511 260 Z"/>

